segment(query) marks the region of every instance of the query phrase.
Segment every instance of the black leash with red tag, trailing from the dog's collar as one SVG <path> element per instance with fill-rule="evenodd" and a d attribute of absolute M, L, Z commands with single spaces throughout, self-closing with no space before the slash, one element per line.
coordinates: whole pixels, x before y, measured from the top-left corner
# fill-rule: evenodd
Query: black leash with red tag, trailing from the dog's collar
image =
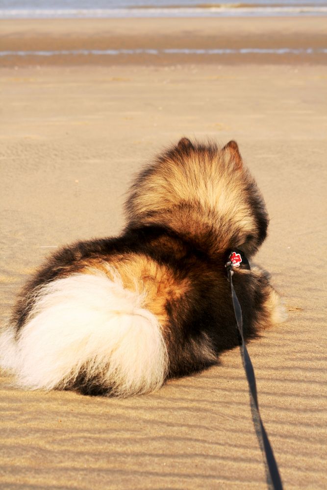
<path fill-rule="evenodd" d="M 242 309 L 241 309 L 241 305 L 238 301 L 238 298 L 236 296 L 234 286 L 233 286 L 233 281 L 232 281 L 232 275 L 234 273 L 233 267 L 239 267 L 241 262 L 243 262 L 247 266 L 247 268 L 250 269 L 249 262 L 247 261 L 246 257 L 243 255 L 243 253 L 240 250 L 233 251 L 229 255 L 229 260 L 226 263 L 225 267 L 227 270 L 228 281 L 230 282 L 231 296 L 232 296 L 232 301 L 233 301 L 233 307 L 234 307 L 234 313 L 235 313 L 238 333 L 239 333 L 239 340 L 240 340 L 240 344 L 242 346 L 241 350 L 242 350 L 243 366 L 245 369 L 245 373 L 247 376 L 250 392 L 251 392 L 252 399 L 254 402 L 253 410 L 255 412 L 256 419 L 259 421 L 259 433 L 260 433 L 261 440 L 263 441 L 263 447 L 265 450 L 266 462 L 267 462 L 267 466 L 268 466 L 268 471 L 269 471 L 271 483 L 273 485 L 274 490 L 283 490 L 283 486 L 281 483 L 281 478 L 279 475 L 278 466 L 277 466 L 277 463 L 275 460 L 274 452 L 273 452 L 272 446 L 270 445 L 266 430 L 264 428 L 263 422 L 262 422 L 261 417 L 260 417 L 258 396 L 257 396 L 255 376 L 254 376 L 254 369 L 253 369 L 252 362 L 251 362 L 251 359 L 249 356 L 249 352 L 248 352 L 248 349 L 245 345 L 244 337 L 243 337 Z"/>

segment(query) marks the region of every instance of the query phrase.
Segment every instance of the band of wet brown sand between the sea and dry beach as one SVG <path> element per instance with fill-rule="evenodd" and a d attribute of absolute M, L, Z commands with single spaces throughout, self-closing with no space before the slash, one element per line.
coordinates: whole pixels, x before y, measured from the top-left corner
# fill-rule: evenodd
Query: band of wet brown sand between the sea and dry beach
<path fill-rule="evenodd" d="M 311 17 L 1 20 L 0 51 L 13 54 L 0 56 L 0 64 L 325 64 L 325 25 Z"/>

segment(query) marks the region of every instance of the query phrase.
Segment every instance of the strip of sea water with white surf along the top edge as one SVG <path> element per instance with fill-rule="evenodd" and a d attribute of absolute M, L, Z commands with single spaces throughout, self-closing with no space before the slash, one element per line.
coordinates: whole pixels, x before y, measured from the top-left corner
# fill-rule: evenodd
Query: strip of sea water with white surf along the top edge
<path fill-rule="evenodd" d="M 327 16 L 327 0 L 1 0 L 0 19 Z"/>

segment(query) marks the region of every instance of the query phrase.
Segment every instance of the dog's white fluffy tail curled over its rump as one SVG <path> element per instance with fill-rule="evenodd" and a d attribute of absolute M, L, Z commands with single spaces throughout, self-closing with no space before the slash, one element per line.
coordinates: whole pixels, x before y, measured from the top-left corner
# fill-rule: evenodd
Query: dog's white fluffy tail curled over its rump
<path fill-rule="evenodd" d="M 57 279 L 40 290 L 18 340 L 12 330 L 0 336 L 0 365 L 31 389 L 69 388 L 82 375 L 116 396 L 151 392 L 165 380 L 168 356 L 143 299 L 118 277 Z"/>

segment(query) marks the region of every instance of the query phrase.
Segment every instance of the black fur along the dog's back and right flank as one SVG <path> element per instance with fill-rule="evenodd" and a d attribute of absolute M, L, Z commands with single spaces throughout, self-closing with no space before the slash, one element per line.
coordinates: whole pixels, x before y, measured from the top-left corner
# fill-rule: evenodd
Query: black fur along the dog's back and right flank
<path fill-rule="evenodd" d="M 171 246 L 160 247 L 162 239 L 170 238 Z M 176 254 L 174 251 L 178 250 Z M 180 252 L 182 250 L 182 254 Z M 210 338 L 218 354 L 238 345 L 235 317 L 232 308 L 230 285 L 227 281 L 225 264 L 227 255 L 222 254 L 213 261 L 204 249 L 173 230 L 159 226 L 127 229 L 118 238 L 78 242 L 62 248 L 39 270 L 22 294 L 14 312 L 17 333 L 23 327 L 34 303 L 33 291 L 39 285 L 58 277 L 76 273 L 90 258 L 110 261 L 117 253 L 146 254 L 174 271 L 176 278 L 190 279 L 191 288 L 182 299 L 167 301 L 171 338 L 169 339 L 169 376 L 183 376 L 203 369 L 210 364 L 205 358 L 194 355 L 191 343 L 197 344 L 203 332 Z M 235 271 L 235 291 L 239 297 L 244 319 L 244 337 L 249 340 L 257 335 L 255 320 L 262 311 L 265 288 L 260 287 L 251 274 Z M 26 301 L 27 298 L 27 301 Z M 84 393 L 102 393 L 97 380 L 83 381 L 83 373 L 75 380 L 74 388 Z"/>

